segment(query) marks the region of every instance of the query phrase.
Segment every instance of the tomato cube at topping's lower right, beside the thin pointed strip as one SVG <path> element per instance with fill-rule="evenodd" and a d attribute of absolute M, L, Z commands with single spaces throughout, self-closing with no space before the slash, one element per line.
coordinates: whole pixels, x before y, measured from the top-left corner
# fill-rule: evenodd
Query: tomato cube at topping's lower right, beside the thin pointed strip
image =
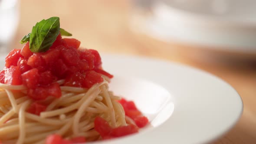
<path fill-rule="evenodd" d="M 103 82 L 103 78 L 100 74 L 95 71 L 85 72 L 85 80 L 83 82 L 83 87 L 90 88 L 96 83 Z"/>

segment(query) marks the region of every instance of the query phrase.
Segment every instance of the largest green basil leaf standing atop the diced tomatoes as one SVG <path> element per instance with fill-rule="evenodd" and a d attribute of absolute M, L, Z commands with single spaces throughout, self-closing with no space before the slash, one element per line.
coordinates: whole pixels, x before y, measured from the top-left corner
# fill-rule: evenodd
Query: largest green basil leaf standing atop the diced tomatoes
<path fill-rule="evenodd" d="M 59 29 L 59 17 L 36 23 L 30 34 L 31 52 L 46 52 L 59 35 Z"/>

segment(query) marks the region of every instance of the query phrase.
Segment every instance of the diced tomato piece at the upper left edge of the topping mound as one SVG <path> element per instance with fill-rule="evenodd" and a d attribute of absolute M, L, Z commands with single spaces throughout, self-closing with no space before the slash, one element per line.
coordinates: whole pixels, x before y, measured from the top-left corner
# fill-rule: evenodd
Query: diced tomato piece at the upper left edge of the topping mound
<path fill-rule="evenodd" d="M 5 66 L 7 68 L 10 68 L 11 65 L 13 66 L 17 66 L 17 62 L 18 60 L 23 57 L 21 54 L 20 54 L 20 49 L 13 49 L 8 55 L 7 57 L 5 58 Z"/>

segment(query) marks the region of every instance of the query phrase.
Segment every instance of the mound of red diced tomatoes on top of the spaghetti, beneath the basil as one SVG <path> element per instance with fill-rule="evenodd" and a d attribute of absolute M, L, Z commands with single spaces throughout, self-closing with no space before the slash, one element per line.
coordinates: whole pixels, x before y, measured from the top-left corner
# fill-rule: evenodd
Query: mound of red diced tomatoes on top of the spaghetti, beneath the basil
<path fill-rule="evenodd" d="M 61 97 L 57 80 L 65 79 L 64 85 L 90 88 L 103 81 L 101 75 L 112 78 L 101 65 L 101 57 L 93 49 L 79 50 L 77 39 L 56 38 L 46 52 L 31 52 L 29 42 L 22 49 L 13 49 L 5 59 L 5 68 L 0 71 L 0 82 L 10 85 L 25 85 L 28 96 L 43 100 L 48 96 Z"/>

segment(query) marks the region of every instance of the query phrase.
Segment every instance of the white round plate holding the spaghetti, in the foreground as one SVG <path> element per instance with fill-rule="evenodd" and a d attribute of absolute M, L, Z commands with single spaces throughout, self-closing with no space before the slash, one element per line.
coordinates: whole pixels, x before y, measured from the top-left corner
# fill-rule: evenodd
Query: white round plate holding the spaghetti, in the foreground
<path fill-rule="evenodd" d="M 202 144 L 230 130 L 242 114 L 238 93 L 209 73 L 135 56 L 103 55 L 102 62 L 115 75 L 110 89 L 135 101 L 151 125 L 138 134 L 96 143 Z"/>

